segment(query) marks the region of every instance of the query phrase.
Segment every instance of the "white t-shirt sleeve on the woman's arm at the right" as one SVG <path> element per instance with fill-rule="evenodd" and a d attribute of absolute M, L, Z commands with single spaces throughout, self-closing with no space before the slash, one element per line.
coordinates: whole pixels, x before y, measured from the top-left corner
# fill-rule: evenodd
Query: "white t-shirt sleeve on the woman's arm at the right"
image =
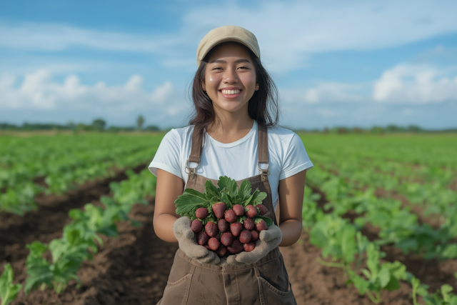
<path fill-rule="evenodd" d="M 279 180 L 286 179 L 305 169 L 311 169 L 313 163 L 306 153 L 305 145 L 300 137 L 293 133 L 291 142 L 283 159 L 283 166 L 279 174 Z"/>

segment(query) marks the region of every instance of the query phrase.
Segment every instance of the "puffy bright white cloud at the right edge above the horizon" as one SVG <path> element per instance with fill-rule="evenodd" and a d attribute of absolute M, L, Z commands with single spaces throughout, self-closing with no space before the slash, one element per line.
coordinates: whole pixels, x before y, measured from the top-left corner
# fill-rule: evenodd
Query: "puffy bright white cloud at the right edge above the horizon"
<path fill-rule="evenodd" d="M 383 72 L 373 99 L 386 103 L 429 104 L 457 101 L 457 74 L 435 66 L 401 64 Z"/>

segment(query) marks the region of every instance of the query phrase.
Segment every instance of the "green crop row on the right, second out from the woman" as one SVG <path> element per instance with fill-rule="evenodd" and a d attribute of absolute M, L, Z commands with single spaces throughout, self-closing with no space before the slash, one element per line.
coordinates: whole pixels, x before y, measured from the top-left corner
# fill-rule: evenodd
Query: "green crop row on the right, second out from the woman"
<path fill-rule="evenodd" d="M 457 213 L 449 214 L 444 224 L 433 229 L 420 224 L 418 216 L 409 207 L 403 207 L 401 201 L 378 198 L 373 187 L 362 191 L 353 182 L 320 169 L 308 180 L 308 184 L 326 193 L 326 208 L 333 209 L 333 214 L 341 216 L 355 211 L 361 216 L 354 224 L 362 228 L 368 222 L 380 229 L 378 245 L 393 244 L 404 254 L 419 254 L 424 259 L 457 258 L 457 245 L 453 242 L 457 237 Z"/>

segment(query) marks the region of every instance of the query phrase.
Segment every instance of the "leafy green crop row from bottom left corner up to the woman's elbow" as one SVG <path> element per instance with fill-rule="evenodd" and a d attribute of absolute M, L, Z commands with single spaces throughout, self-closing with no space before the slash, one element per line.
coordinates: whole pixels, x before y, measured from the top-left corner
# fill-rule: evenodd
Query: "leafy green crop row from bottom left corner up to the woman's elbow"
<path fill-rule="evenodd" d="M 131 221 L 134 226 L 140 225 L 138 221 L 129 219 L 127 214 L 136 203 L 148 204 L 146 196 L 155 196 L 156 177 L 148 169 L 140 174 L 129 170 L 127 175 L 127 180 L 111 182 L 112 196 L 102 196 L 101 206 L 86 204 L 84 210 L 69 211 L 72 221 L 64 226 L 60 239 L 54 239 L 47 245 L 40 241 L 27 245 L 30 253 L 26 259 L 26 294 L 33 289 L 45 289 L 46 286 L 60 294 L 72 279 L 79 285 L 76 273 L 81 263 L 92 259 L 98 247 L 103 244 L 100 234 L 116 237 L 118 221 Z M 46 252 L 51 252 L 50 261 L 46 259 Z M 10 268 L 5 267 L 0 279 L 1 305 L 9 304 L 22 288 L 22 285 L 12 284 Z"/>

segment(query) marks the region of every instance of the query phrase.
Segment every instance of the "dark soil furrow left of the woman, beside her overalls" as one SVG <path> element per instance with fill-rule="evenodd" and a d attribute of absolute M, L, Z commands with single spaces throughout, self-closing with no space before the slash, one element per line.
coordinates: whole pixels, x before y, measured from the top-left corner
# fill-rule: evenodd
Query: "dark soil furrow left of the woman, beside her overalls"
<path fill-rule="evenodd" d="M 17 304 L 156 304 L 163 294 L 178 244 L 167 243 L 154 234 L 154 199 L 148 206 L 136 204 L 129 216 L 141 227 L 123 222 L 117 238 L 103 237 L 104 245 L 93 261 L 85 261 L 78 272 L 81 286 L 70 282 L 66 291 L 50 289 L 20 292 Z M 24 263 L 13 264 L 15 279 L 24 283 Z"/>

